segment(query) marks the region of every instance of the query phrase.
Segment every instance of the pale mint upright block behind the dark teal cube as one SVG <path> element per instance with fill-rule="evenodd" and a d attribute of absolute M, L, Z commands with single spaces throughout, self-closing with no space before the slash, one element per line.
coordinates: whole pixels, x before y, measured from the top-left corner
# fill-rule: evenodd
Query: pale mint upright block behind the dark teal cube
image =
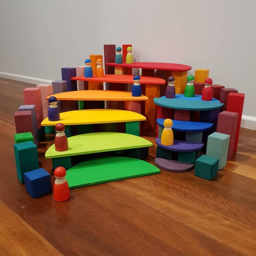
<path fill-rule="evenodd" d="M 208 136 L 206 155 L 219 159 L 218 169 L 221 170 L 227 163 L 230 135 L 212 133 Z"/>

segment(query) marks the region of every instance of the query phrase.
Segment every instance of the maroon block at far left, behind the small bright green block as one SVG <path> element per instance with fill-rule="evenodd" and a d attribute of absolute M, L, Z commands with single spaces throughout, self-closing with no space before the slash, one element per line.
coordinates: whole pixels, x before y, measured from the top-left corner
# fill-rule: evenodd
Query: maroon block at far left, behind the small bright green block
<path fill-rule="evenodd" d="M 16 111 L 14 113 L 14 121 L 16 133 L 28 133 L 33 134 L 33 121 L 30 110 Z"/>

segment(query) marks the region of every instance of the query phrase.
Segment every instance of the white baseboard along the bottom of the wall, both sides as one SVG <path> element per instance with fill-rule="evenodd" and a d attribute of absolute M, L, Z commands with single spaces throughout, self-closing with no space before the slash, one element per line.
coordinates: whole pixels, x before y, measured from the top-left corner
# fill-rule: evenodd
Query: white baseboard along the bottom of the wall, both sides
<path fill-rule="evenodd" d="M 26 77 L 25 75 L 16 75 L 11 73 L 0 72 L 1 78 L 21 81 L 25 83 L 32 83 L 33 85 L 38 85 L 39 83 L 51 83 L 51 80 L 40 79 L 35 77 Z M 242 115 L 241 127 L 256 130 L 256 117 L 251 117 L 249 115 Z"/>

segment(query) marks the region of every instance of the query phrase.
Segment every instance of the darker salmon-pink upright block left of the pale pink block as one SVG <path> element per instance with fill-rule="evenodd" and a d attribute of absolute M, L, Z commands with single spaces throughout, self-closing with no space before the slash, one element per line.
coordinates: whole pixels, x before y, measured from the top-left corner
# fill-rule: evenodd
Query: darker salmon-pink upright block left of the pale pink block
<path fill-rule="evenodd" d="M 43 110 L 41 101 L 40 88 L 26 88 L 23 90 L 24 104 L 35 105 L 35 112 L 37 114 L 37 128 L 41 128 L 43 121 Z"/>

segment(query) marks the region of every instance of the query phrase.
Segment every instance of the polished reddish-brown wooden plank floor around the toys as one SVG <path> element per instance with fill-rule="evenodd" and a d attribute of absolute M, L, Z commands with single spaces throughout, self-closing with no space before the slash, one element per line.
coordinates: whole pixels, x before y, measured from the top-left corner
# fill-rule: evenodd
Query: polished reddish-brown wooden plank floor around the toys
<path fill-rule="evenodd" d="M 213 181 L 194 171 L 129 179 L 32 199 L 16 175 L 14 112 L 30 84 L 0 79 L 0 255 L 256 255 L 256 131 Z M 154 142 L 154 133 L 145 138 Z M 51 145 L 40 143 L 40 167 Z M 149 162 L 154 162 L 154 147 Z M 54 178 L 52 177 L 52 182 Z"/>

